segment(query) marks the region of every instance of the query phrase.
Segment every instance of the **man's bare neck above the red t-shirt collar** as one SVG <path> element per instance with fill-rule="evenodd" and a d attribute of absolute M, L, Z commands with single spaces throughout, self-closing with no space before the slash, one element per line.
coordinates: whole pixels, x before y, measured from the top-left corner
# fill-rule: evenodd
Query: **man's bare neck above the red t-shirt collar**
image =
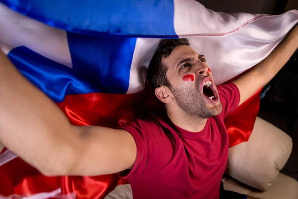
<path fill-rule="evenodd" d="M 167 111 L 167 115 L 176 126 L 179 126 L 180 128 L 190 132 L 202 131 L 205 128 L 207 122 L 207 118 L 190 116 L 185 112 L 180 111 L 175 113 Z"/>

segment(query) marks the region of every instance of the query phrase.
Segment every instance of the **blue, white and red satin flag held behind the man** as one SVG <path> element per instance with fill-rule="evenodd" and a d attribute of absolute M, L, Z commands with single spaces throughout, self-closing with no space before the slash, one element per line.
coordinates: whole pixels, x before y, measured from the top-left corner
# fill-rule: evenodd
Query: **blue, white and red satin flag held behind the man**
<path fill-rule="evenodd" d="M 297 22 L 297 10 L 226 14 L 192 0 L 0 0 L 0 48 L 73 124 L 117 127 L 156 104 L 145 83 L 161 38 L 189 38 L 220 85 L 262 61 Z M 248 140 L 258 108 L 257 93 L 225 119 L 230 146 Z M 0 198 L 99 199 L 126 183 L 116 174 L 45 177 L 6 149 L 0 177 Z"/>

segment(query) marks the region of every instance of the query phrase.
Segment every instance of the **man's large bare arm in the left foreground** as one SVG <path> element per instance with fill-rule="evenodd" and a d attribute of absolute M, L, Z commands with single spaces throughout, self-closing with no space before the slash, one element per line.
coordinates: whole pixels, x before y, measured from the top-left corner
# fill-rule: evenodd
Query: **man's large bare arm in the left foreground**
<path fill-rule="evenodd" d="M 103 175 L 136 158 L 125 130 L 73 126 L 0 52 L 0 142 L 46 175 Z"/>

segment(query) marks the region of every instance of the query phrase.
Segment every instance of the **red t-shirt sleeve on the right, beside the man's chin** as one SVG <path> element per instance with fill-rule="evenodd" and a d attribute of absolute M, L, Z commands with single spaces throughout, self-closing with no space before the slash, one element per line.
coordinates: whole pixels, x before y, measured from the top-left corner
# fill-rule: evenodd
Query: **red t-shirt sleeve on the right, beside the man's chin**
<path fill-rule="evenodd" d="M 240 102 L 240 93 L 237 86 L 233 83 L 223 84 L 217 88 L 223 105 L 221 116 L 224 118 L 238 106 Z"/>

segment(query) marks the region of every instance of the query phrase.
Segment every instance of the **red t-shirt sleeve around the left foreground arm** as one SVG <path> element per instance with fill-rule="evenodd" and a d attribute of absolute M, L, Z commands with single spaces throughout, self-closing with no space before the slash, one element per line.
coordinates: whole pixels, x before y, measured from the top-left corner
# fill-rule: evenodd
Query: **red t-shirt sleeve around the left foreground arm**
<path fill-rule="evenodd" d="M 154 120 L 142 119 L 118 128 L 128 131 L 134 137 L 137 146 L 137 156 L 132 169 L 120 172 L 119 176 L 126 177 L 142 173 L 148 167 L 149 154 L 154 148 L 153 144 L 158 142 L 162 129 Z"/>

